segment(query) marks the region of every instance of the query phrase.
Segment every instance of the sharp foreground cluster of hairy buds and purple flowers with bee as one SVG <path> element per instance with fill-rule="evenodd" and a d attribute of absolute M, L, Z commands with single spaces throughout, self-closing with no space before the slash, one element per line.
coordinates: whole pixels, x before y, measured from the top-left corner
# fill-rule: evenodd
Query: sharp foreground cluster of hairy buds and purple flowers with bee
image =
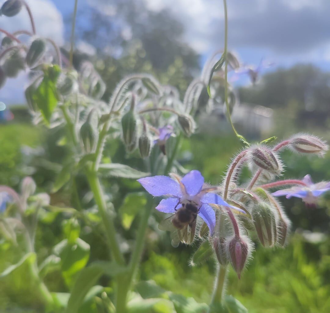
<path fill-rule="evenodd" d="M 154 176 L 139 182 L 154 196 L 170 194 L 156 209 L 173 213 L 172 226 L 177 228 L 179 240 L 185 244 L 198 238 L 204 240 L 192 257 L 192 264 L 204 260 L 204 256 L 209 257 L 213 250 L 220 266 L 230 263 L 240 277 L 253 250 L 248 235 L 253 240 L 258 238 L 264 247 L 284 246 L 287 242 L 291 223 L 277 196 L 299 197 L 308 204 L 315 204 L 320 194 L 330 190 L 330 183 L 314 184 L 309 175 L 302 180 L 276 181 L 283 172 L 279 151 L 284 148 L 315 155 L 323 155 L 328 150 L 328 146 L 315 136 L 296 135 L 274 147 L 266 144 L 249 146 L 233 159 L 219 187 L 205 185 L 198 171 L 191 171 L 183 178 L 173 174 L 172 179 Z M 250 165 L 253 177 L 249 184 L 239 186 L 237 180 L 244 163 Z M 271 182 L 260 179 L 265 177 Z M 292 187 L 273 193 L 268 191 L 288 185 Z M 184 219 L 189 216 L 187 208 L 196 214 Z M 163 223 L 160 226 L 170 229 Z M 199 236 L 195 236 L 195 231 Z"/>

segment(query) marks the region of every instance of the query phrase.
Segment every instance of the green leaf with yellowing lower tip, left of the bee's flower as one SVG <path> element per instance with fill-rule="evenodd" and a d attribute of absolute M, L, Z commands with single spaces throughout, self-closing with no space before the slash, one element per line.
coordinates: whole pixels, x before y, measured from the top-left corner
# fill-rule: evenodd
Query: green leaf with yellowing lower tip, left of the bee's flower
<path fill-rule="evenodd" d="M 125 229 L 129 229 L 134 218 L 145 208 L 147 198 L 144 192 L 128 193 L 119 208 L 121 224 Z"/>

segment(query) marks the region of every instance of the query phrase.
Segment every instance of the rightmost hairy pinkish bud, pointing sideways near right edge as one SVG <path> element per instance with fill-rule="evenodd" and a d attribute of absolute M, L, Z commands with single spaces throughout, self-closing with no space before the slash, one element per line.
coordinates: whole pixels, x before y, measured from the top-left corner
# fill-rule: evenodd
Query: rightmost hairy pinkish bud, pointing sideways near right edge
<path fill-rule="evenodd" d="M 315 153 L 323 156 L 329 146 L 320 138 L 311 135 L 296 135 L 290 139 L 290 147 L 301 153 Z"/>

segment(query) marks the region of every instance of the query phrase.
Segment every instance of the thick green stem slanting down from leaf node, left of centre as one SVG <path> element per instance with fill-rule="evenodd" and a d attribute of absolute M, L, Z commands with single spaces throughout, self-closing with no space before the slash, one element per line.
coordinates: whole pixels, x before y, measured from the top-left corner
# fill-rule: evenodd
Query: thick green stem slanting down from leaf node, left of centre
<path fill-rule="evenodd" d="M 86 171 L 87 180 L 91 191 L 93 192 L 96 205 L 98 206 L 99 212 L 102 217 L 103 224 L 105 226 L 107 239 L 110 243 L 111 250 L 114 259 L 119 264 L 124 264 L 125 260 L 120 252 L 119 245 L 116 239 L 116 229 L 112 218 L 107 213 L 107 205 L 104 200 L 104 194 L 100 184 L 100 180 L 97 177 L 97 173 L 92 171 Z"/>

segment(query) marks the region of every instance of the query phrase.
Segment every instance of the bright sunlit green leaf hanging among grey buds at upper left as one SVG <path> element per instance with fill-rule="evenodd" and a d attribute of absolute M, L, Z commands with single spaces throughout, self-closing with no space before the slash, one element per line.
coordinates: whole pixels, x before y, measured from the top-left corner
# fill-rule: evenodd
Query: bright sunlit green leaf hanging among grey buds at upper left
<path fill-rule="evenodd" d="M 61 69 L 58 65 L 45 67 L 44 78 L 32 95 L 32 100 L 37 104 L 47 124 L 49 124 L 51 114 L 57 106 L 56 82 L 60 73 Z"/>

